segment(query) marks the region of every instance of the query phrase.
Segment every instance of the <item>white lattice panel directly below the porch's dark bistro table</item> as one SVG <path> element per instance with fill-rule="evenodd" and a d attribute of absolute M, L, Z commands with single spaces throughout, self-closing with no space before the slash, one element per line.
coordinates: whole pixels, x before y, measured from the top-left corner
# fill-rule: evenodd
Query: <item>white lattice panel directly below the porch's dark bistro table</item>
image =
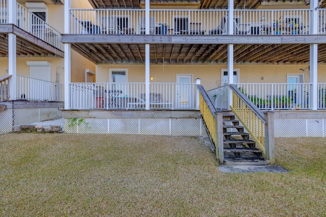
<path fill-rule="evenodd" d="M 110 118 L 108 122 L 108 133 L 139 134 L 138 118 Z"/>

